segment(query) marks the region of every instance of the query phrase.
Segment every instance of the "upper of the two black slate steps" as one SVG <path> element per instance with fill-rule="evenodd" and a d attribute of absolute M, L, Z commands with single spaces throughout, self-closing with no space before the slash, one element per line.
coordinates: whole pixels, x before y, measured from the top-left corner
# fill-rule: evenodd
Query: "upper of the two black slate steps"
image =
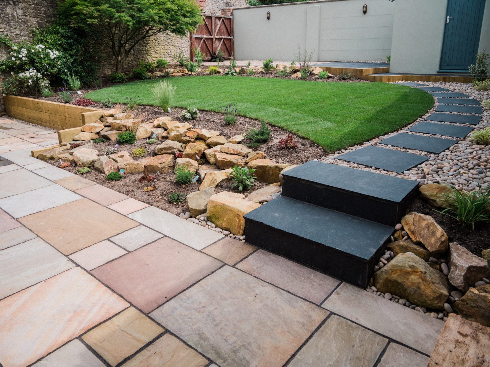
<path fill-rule="evenodd" d="M 394 227 L 417 182 L 309 161 L 283 173 L 282 195 Z"/>

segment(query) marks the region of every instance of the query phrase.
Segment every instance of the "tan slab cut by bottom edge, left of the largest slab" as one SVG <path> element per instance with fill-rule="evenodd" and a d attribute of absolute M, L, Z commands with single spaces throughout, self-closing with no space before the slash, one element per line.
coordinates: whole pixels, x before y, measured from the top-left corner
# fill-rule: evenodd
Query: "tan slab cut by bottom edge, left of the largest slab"
<path fill-rule="evenodd" d="M 170 334 L 142 350 L 123 367 L 204 367 L 208 361 Z"/>

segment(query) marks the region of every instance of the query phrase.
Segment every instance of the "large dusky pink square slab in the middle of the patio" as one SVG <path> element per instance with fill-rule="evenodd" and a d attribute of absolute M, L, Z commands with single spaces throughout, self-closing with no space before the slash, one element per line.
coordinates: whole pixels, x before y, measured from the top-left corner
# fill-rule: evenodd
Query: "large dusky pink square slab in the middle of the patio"
<path fill-rule="evenodd" d="M 92 274 L 147 313 L 221 265 L 165 237 L 94 269 Z"/>

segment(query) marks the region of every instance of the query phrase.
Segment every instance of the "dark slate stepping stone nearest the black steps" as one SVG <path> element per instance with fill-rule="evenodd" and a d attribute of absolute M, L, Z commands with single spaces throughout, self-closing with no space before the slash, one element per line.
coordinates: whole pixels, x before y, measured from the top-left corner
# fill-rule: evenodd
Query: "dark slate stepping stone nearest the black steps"
<path fill-rule="evenodd" d="M 367 146 L 353 152 L 345 153 L 339 159 L 362 164 L 368 167 L 381 168 L 391 172 L 401 173 L 429 158 L 418 154 L 398 152 L 397 150 Z"/>

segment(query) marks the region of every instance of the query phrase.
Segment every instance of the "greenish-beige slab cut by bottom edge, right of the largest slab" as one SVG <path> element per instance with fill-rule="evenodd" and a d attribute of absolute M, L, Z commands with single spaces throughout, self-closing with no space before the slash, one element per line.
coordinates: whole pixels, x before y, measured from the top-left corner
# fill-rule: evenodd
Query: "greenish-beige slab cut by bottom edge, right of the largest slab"
<path fill-rule="evenodd" d="M 291 367 L 371 367 L 388 339 L 332 315 L 294 356 Z M 407 365 L 400 365 L 407 366 Z"/>

